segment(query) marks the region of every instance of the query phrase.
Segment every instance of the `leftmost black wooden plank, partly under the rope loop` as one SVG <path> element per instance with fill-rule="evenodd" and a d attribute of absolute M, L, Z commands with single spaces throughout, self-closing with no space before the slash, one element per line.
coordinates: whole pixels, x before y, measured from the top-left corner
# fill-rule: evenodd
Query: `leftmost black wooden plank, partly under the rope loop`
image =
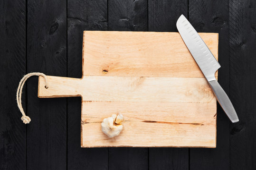
<path fill-rule="evenodd" d="M 26 74 L 26 0 L 0 0 L 0 37 L 0 169 L 26 170 L 26 125 L 16 104 Z"/>

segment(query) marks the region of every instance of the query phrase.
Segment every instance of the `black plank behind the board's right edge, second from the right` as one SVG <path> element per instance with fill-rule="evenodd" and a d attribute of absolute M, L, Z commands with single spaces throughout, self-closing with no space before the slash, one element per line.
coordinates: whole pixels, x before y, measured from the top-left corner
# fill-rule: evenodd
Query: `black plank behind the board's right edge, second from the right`
<path fill-rule="evenodd" d="M 198 32 L 219 33 L 218 82 L 229 93 L 228 0 L 189 0 L 189 20 Z M 224 161 L 225 160 L 225 161 Z M 218 105 L 217 147 L 191 148 L 190 170 L 229 169 L 229 119 Z"/>

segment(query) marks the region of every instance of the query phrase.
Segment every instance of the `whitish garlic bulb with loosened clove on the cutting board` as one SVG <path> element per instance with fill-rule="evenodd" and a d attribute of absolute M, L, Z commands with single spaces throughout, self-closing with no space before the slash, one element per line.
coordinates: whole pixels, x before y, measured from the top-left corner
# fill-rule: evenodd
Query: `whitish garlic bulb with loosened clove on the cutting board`
<path fill-rule="evenodd" d="M 122 114 L 113 114 L 111 117 L 103 119 L 101 130 L 108 137 L 118 136 L 123 129 L 123 122 Z"/>

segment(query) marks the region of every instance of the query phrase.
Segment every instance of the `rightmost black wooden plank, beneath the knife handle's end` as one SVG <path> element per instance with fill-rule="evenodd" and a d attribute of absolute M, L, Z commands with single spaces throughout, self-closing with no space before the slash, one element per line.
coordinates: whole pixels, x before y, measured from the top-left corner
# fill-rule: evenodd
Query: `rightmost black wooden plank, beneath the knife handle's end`
<path fill-rule="evenodd" d="M 256 1 L 229 0 L 230 169 L 256 169 Z"/>

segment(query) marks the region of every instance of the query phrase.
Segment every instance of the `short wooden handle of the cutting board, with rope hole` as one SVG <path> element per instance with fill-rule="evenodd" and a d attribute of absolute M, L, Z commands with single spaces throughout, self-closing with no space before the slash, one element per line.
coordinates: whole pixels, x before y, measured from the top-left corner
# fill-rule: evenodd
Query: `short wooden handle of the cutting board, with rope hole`
<path fill-rule="evenodd" d="M 47 76 L 48 88 L 45 87 L 45 79 L 41 76 L 38 78 L 38 97 L 74 97 L 81 96 L 78 93 L 77 86 L 81 84 L 80 78 L 69 78 L 60 76 Z"/>

